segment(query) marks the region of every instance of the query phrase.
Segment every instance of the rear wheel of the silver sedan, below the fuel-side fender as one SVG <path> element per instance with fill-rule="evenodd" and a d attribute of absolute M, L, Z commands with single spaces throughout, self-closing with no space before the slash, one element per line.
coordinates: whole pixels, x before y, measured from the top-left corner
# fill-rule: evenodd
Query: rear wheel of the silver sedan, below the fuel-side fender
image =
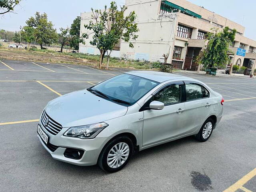
<path fill-rule="evenodd" d="M 214 126 L 213 120 L 211 118 L 208 118 L 202 125 L 198 134 L 196 134 L 196 139 L 200 142 L 207 141 L 212 135 L 213 126 Z"/>

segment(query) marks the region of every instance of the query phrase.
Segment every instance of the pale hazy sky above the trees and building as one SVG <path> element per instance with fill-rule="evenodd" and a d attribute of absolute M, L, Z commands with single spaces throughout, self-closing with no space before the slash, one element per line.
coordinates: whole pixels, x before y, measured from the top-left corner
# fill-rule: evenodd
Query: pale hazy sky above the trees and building
<path fill-rule="evenodd" d="M 70 26 L 81 12 L 90 12 L 90 8 L 102 9 L 110 5 L 112 0 L 22 0 L 14 13 L 0 17 L 0 29 L 18 31 L 26 25 L 26 20 L 34 16 L 36 11 L 48 14 L 55 28 Z M 188 0 L 196 5 L 224 16 L 245 29 L 244 36 L 256 40 L 255 8 L 256 0 Z M 124 5 L 125 0 L 116 0 Z"/>

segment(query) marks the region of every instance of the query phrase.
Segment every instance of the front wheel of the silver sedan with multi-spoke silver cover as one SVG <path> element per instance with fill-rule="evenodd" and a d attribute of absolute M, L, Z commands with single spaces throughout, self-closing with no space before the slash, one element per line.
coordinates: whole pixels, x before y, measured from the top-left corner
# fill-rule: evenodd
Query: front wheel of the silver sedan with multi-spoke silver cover
<path fill-rule="evenodd" d="M 100 153 L 98 165 L 106 172 L 121 170 L 133 154 L 134 144 L 127 136 L 120 136 L 110 141 Z"/>

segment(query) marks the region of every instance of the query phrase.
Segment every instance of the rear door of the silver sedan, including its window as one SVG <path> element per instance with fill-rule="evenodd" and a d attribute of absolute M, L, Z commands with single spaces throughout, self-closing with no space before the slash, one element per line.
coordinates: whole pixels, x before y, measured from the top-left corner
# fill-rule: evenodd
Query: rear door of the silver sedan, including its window
<path fill-rule="evenodd" d="M 184 127 L 186 134 L 196 131 L 202 126 L 212 111 L 210 92 L 203 85 L 195 82 L 185 82 L 186 102 Z"/>

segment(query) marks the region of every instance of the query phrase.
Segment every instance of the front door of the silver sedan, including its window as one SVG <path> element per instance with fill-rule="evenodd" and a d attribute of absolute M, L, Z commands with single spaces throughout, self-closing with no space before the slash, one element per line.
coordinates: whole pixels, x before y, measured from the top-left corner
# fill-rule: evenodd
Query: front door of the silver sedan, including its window
<path fill-rule="evenodd" d="M 143 124 L 143 146 L 148 146 L 181 135 L 184 116 L 184 83 L 168 84 L 158 91 L 152 101 L 164 103 L 162 110 L 145 110 Z"/>

